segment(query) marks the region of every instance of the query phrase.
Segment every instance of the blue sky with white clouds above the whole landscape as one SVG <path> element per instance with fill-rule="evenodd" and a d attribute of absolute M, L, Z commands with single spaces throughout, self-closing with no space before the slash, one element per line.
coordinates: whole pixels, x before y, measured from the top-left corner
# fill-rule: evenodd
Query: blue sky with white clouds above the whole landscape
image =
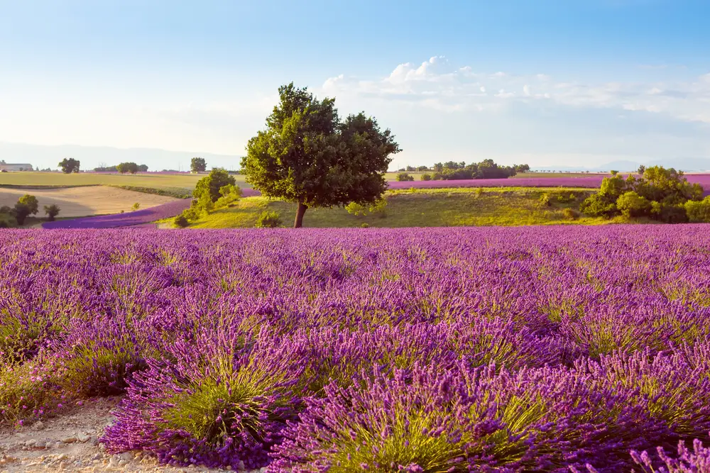
<path fill-rule="evenodd" d="M 240 156 L 293 81 L 391 128 L 393 168 L 710 158 L 709 18 L 707 0 L 0 0 L 0 143 Z"/>

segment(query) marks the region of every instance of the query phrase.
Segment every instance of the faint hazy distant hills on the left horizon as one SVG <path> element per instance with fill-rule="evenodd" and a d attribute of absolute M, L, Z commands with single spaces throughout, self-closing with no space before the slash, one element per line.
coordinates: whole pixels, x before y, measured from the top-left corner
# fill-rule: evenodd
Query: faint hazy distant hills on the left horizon
<path fill-rule="evenodd" d="M 82 170 L 94 169 L 100 165 L 112 166 L 119 162 L 138 162 L 148 165 L 149 171 L 162 169 L 190 170 L 192 157 L 204 157 L 207 169 L 224 167 L 239 169 L 241 157 L 236 155 L 215 155 L 209 152 L 169 151 L 151 148 L 109 148 L 79 145 L 26 145 L 23 143 L 0 142 L 0 160 L 6 162 L 27 162 L 35 169 L 57 169 L 57 163 L 65 157 L 80 160 Z"/>

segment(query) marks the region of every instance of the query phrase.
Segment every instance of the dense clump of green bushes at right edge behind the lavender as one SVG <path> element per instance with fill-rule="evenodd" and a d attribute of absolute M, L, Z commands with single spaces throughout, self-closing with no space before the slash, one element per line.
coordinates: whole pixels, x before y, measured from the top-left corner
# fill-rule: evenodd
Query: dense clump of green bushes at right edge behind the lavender
<path fill-rule="evenodd" d="M 665 223 L 710 222 L 710 197 L 700 184 L 690 184 L 682 171 L 642 167 L 639 177 L 616 171 L 601 182 L 580 210 L 591 216 L 648 217 Z"/>

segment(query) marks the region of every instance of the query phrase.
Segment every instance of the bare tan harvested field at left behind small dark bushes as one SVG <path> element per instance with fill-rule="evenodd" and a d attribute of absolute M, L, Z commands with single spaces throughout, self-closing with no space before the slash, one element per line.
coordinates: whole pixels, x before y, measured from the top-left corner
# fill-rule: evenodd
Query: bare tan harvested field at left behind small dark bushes
<path fill-rule="evenodd" d="M 13 206 L 24 194 L 37 197 L 40 213 L 43 206 L 57 204 L 60 217 L 83 217 L 131 211 L 133 204 L 150 208 L 178 199 L 108 186 L 66 187 L 60 189 L 0 189 L 0 206 Z"/>

